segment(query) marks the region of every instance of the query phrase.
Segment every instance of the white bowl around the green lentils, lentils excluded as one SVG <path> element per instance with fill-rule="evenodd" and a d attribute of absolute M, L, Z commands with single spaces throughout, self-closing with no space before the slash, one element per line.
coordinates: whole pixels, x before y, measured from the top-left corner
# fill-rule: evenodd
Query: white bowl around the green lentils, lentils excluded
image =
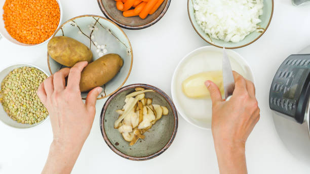
<path fill-rule="evenodd" d="M 27 64 L 27 63 L 21 63 L 21 64 L 15 64 L 15 65 L 10 65 L 6 68 L 4 68 L 3 70 L 0 71 L 0 83 L 3 81 L 3 79 L 14 69 L 19 68 L 19 67 L 33 67 L 36 68 L 42 72 L 44 72 L 47 76 L 49 76 L 49 74 L 47 72 L 45 72 L 43 69 L 35 66 L 35 65 L 31 65 L 31 64 Z M 0 85 L 0 89 L 1 89 L 1 85 Z M 0 104 L 1 105 L 1 104 Z M 45 122 L 48 119 L 49 116 L 47 116 L 43 121 L 39 122 L 39 123 L 35 123 L 35 124 L 22 124 L 19 123 L 15 120 L 13 120 L 12 118 L 10 118 L 10 116 L 7 114 L 7 112 L 4 110 L 3 106 L 0 106 L 0 120 L 2 122 L 4 122 L 5 124 L 11 126 L 11 127 L 15 127 L 15 128 L 30 128 L 30 127 L 34 127 L 37 126 L 39 124 L 42 124 L 43 122 Z"/>

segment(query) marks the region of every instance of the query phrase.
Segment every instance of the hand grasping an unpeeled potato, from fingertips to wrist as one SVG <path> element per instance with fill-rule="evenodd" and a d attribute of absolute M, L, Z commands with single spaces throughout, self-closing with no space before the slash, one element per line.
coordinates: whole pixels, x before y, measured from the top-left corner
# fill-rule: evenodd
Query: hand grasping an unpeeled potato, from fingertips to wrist
<path fill-rule="evenodd" d="M 50 113 L 53 141 L 66 146 L 83 146 L 96 112 L 97 96 L 102 88 L 89 92 L 85 104 L 80 92 L 81 72 L 87 62 L 63 68 L 39 86 L 37 95 Z M 68 76 L 67 86 L 65 77 Z"/>

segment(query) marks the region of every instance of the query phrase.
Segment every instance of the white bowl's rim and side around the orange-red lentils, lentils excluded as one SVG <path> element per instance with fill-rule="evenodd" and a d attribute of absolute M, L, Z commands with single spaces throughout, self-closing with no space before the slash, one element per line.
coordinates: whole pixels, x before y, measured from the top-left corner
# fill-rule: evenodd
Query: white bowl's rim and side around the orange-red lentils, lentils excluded
<path fill-rule="evenodd" d="M 59 5 L 59 10 L 60 10 L 60 19 L 59 19 L 59 24 L 58 24 L 58 27 L 60 26 L 61 24 L 61 21 L 62 21 L 62 7 L 61 7 L 61 4 L 60 4 L 60 1 L 59 0 L 56 0 L 58 5 Z M 41 46 L 43 45 L 44 43 L 48 42 L 52 36 L 50 38 L 48 38 L 47 40 L 45 40 L 44 42 L 42 43 L 37 43 L 37 44 L 34 44 L 34 45 L 29 45 L 29 44 L 25 44 L 25 43 L 21 43 L 17 40 L 15 40 L 15 38 L 13 38 L 7 31 L 7 29 L 5 28 L 5 24 L 4 24 L 4 20 L 3 20 L 3 6 L 4 6 L 4 3 L 6 2 L 6 0 L 0 0 L 0 15 L 1 15 L 1 18 L 0 18 L 0 38 L 1 38 L 1 35 L 6 38 L 7 40 L 9 40 L 10 42 L 14 43 L 15 45 L 18 45 L 18 46 L 23 46 L 23 47 L 36 47 L 36 46 Z"/>

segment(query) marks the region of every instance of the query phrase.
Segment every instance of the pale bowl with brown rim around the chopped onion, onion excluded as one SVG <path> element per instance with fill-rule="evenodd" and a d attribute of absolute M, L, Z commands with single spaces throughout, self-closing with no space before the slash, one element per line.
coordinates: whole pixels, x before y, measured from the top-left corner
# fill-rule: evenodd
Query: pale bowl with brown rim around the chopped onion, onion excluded
<path fill-rule="evenodd" d="M 206 40 L 211 45 L 219 48 L 223 48 L 224 46 L 226 49 L 237 49 L 250 45 L 251 43 L 256 41 L 260 36 L 262 36 L 264 32 L 267 30 L 274 13 L 274 0 L 264 0 L 263 14 L 259 17 L 259 19 L 262 21 L 261 23 L 259 23 L 259 26 L 260 28 L 263 29 L 263 31 L 262 32 L 254 31 L 249 35 L 247 35 L 243 40 L 241 40 L 238 43 L 234 43 L 231 41 L 225 42 L 223 40 L 211 38 L 200 28 L 200 26 L 196 22 L 195 11 L 193 9 L 194 1 L 195 0 L 187 0 L 188 17 L 192 27 L 196 30 L 196 32 L 200 35 L 201 38 Z"/>

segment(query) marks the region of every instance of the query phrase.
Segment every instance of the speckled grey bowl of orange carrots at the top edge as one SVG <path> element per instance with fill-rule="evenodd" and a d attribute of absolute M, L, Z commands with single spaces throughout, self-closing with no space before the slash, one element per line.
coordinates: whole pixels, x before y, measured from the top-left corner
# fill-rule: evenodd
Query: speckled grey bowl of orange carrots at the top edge
<path fill-rule="evenodd" d="M 154 25 L 167 12 L 171 0 L 97 0 L 102 13 L 126 29 Z"/>

